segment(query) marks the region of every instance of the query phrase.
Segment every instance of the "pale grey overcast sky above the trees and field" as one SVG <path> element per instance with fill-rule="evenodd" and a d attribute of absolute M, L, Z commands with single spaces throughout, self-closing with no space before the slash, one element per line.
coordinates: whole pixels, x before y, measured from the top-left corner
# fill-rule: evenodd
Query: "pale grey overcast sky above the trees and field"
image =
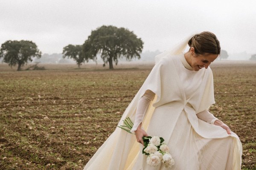
<path fill-rule="evenodd" d="M 0 0 L 0 44 L 32 40 L 43 53 L 61 53 L 102 25 L 134 31 L 143 51 L 212 31 L 229 53 L 256 53 L 255 0 Z"/>

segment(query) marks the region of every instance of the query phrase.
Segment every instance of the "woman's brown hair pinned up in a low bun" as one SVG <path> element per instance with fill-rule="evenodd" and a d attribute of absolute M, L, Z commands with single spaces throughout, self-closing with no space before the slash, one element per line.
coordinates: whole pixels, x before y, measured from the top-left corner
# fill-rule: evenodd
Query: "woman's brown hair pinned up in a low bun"
<path fill-rule="evenodd" d="M 216 35 L 209 31 L 204 31 L 200 34 L 195 34 L 195 36 L 189 40 L 188 44 L 190 48 L 195 48 L 195 54 L 204 55 L 206 53 L 221 53 L 220 42 L 218 41 Z"/>

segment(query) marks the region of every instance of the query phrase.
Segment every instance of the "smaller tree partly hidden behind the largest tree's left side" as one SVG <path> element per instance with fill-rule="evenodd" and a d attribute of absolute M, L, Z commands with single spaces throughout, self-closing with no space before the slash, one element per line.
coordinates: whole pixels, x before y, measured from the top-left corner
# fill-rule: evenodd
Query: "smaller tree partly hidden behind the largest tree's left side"
<path fill-rule="evenodd" d="M 63 58 L 73 58 L 76 61 L 76 64 L 78 65 L 78 68 L 80 68 L 80 65 L 85 62 L 89 61 L 88 58 L 84 57 L 82 55 L 82 45 L 67 45 L 63 48 L 62 52 Z"/>

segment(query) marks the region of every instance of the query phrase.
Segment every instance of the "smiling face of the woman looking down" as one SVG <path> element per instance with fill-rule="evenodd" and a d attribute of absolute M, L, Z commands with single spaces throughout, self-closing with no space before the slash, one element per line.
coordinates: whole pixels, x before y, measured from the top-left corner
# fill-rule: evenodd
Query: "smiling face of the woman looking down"
<path fill-rule="evenodd" d="M 192 50 L 193 51 L 193 50 Z M 191 51 L 191 52 L 192 52 Z M 206 54 L 196 55 L 192 52 L 192 56 L 190 57 L 190 65 L 193 68 L 194 71 L 199 71 L 202 68 L 208 68 L 208 66 L 218 57 L 218 54 Z"/>

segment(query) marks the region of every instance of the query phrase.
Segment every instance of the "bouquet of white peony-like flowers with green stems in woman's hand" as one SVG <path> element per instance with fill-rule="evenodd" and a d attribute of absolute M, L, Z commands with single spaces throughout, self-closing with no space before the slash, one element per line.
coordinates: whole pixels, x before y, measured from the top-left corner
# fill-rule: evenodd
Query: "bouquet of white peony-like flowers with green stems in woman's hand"
<path fill-rule="evenodd" d="M 124 125 L 117 126 L 121 129 L 131 133 L 131 128 L 133 127 L 133 122 L 127 117 L 123 120 Z M 133 133 L 132 133 L 133 134 Z M 163 143 L 164 139 L 159 136 L 143 136 L 144 148 L 142 153 L 147 155 L 147 164 L 152 167 L 158 166 L 161 162 L 166 168 L 172 167 L 175 164 L 169 153 L 169 147 Z"/>

